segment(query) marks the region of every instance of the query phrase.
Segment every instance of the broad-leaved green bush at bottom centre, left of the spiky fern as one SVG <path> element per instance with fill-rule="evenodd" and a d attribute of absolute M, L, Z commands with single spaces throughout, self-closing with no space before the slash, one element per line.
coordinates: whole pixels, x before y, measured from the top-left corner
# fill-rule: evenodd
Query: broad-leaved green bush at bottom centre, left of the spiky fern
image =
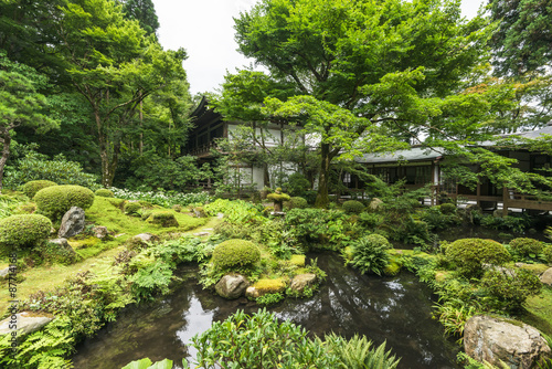
<path fill-rule="evenodd" d="M 283 339 L 285 337 L 286 339 Z M 251 316 L 236 312 L 192 338 L 198 355 L 194 368 L 336 368 L 337 357 L 307 331 L 274 313 Z"/>

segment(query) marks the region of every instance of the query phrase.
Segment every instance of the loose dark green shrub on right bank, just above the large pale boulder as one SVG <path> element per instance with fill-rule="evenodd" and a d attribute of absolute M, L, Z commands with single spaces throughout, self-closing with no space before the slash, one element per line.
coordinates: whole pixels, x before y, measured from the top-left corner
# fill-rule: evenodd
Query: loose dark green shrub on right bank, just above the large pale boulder
<path fill-rule="evenodd" d="M 530 271 L 493 268 L 485 272 L 481 286 L 498 299 L 500 307 L 516 310 L 528 297 L 541 292 L 542 283 Z"/>

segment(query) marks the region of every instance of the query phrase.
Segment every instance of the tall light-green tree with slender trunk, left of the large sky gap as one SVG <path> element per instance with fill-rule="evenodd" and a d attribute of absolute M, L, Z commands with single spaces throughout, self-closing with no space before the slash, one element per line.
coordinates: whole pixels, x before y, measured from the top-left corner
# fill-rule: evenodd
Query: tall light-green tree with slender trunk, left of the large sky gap
<path fill-rule="evenodd" d="M 57 27 L 66 71 L 94 116 L 102 184 L 113 183 L 121 139 L 140 102 L 170 81 L 185 80 L 183 50 L 163 51 L 137 21 L 109 0 L 75 0 Z"/>

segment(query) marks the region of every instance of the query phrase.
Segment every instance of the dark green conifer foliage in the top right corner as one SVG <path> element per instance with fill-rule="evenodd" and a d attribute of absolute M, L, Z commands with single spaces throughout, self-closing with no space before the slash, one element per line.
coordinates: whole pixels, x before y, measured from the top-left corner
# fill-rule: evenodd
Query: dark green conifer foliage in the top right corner
<path fill-rule="evenodd" d="M 550 0 L 489 0 L 497 74 L 523 76 L 546 72 L 552 61 L 552 4 Z"/>

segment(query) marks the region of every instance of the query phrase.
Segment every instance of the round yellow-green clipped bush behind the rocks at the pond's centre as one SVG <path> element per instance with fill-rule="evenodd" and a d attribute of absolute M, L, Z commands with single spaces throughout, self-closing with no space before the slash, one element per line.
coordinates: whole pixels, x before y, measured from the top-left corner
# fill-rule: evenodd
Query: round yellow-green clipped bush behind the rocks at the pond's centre
<path fill-rule="evenodd" d="M 247 267 L 261 260 L 261 251 L 251 241 L 227 240 L 214 247 L 213 264 L 220 268 Z"/>

